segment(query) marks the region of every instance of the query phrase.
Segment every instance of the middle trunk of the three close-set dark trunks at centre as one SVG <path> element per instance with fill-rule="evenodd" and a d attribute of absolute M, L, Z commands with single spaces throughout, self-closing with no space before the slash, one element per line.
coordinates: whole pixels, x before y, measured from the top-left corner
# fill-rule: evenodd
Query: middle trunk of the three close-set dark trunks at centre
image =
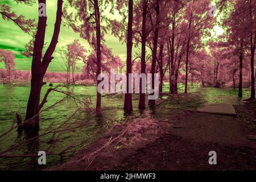
<path fill-rule="evenodd" d="M 146 73 L 146 19 L 147 19 L 147 0 L 143 0 L 142 13 L 142 41 L 141 41 L 141 74 Z M 146 82 L 146 81 L 145 81 Z M 146 85 L 144 85 L 146 86 Z M 142 93 L 142 78 L 139 85 L 139 108 L 145 108 L 145 93 Z"/>

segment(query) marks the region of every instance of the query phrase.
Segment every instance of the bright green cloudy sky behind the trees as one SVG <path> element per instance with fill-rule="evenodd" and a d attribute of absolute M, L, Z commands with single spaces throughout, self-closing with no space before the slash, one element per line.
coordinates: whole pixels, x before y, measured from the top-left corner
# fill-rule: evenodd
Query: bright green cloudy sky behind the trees
<path fill-rule="evenodd" d="M 57 1 L 47 1 L 47 30 L 46 30 L 46 44 L 51 41 L 53 26 L 56 18 L 56 2 Z M 11 8 L 18 15 L 24 15 L 26 18 L 36 19 L 38 18 L 38 4 L 35 3 L 33 6 L 18 4 L 12 0 L 0 0 L 0 3 L 5 3 L 6 5 L 11 6 Z M 112 15 L 113 16 L 113 15 Z M 116 15 L 115 15 L 116 16 Z M 91 51 L 92 48 L 86 42 L 86 40 L 81 39 L 79 34 L 73 32 L 71 28 L 61 26 L 59 43 L 57 44 L 56 51 L 53 53 L 55 59 L 52 60 L 49 65 L 48 71 L 52 72 L 64 72 L 64 69 L 61 67 L 61 57 L 59 55 L 61 47 L 72 43 L 73 40 L 79 39 L 82 46 L 88 51 Z M 9 49 L 15 53 L 15 62 L 16 69 L 18 70 L 29 70 L 31 69 L 31 58 L 24 57 L 20 51 L 24 51 L 24 44 L 31 40 L 31 36 L 25 34 L 18 26 L 13 22 L 7 22 L 0 18 L 0 48 Z M 119 42 L 117 38 L 112 35 L 105 35 L 105 44 L 112 49 L 114 55 L 119 55 L 123 61 L 126 60 L 126 45 Z M 77 64 L 81 68 L 84 65 L 83 63 Z M 4 64 L 0 63 L 0 68 L 4 68 Z"/>

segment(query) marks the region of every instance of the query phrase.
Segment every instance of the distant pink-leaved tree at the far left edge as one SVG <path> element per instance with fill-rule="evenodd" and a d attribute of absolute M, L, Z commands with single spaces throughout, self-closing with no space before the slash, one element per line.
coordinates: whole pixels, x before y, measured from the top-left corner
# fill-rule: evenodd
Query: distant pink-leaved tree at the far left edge
<path fill-rule="evenodd" d="M 11 82 L 11 72 L 15 69 L 15 55 L 9 50 L 0 49 L 0 62 L 5 63 L 7 70 L 7 81 Z"/>

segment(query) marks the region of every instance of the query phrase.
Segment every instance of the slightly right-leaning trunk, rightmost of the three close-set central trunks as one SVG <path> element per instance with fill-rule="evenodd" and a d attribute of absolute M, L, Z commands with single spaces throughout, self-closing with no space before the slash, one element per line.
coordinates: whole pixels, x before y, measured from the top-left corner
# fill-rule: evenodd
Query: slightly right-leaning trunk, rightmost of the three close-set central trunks
<path fill-rule="evenodd" d="M 152 84 L 151 87 L 154 90 L 155 89 L 155 66 L 156 66 L 156 52 L 158 48 L 158 32 L 159 32 L 159 0 L 156 0 L 155 4 L 155 12 L 156 12 L 156 26 L 155 26 L 155 32 L 154 32 L 154 39 L 153 39 L 153 51 L 152 51 L 152 65 L 151 65 L 151 74 L 152 74 Z M 151 93 L 154 95 L 154 92 Z M 155 105 L 155 100 L 148 100 L 149 106 Z"/>

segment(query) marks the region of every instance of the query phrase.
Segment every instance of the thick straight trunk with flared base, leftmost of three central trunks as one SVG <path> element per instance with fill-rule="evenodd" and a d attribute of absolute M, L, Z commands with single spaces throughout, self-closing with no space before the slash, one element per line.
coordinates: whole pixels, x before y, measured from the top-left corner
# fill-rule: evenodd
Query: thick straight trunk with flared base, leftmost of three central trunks
<path fill-rule="evenodd" d="M 125 104 L 123 109 L 126 111 L 133 110 L 133 98 L 132 94 L 129 93 L 129 73 L 131 73 L 131 59 L 133 50 L 133 0 L 129 0 L 129 15 L 128 15 L 128 31 L 127 31 L 127 58 L 126 58 L 126 93 L 125 93 Z"/>

